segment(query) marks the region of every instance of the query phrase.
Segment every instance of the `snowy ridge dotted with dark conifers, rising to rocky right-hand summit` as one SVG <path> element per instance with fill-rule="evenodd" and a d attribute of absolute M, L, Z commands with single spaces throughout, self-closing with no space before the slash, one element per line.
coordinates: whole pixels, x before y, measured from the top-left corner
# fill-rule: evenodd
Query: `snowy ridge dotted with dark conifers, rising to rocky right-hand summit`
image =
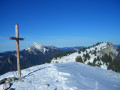
<path fill-rule="evenodd" d="M 66 62 L 76 62 L 77 58 L 81 57 L 81 61 L 84 64 L 92 65 L 92 66 L 99 66 L 103 69 L 108 69 L 110 67 L 109 60 L 116 59 L 116 56 L 118 55 L 119 51 L 117 51 L 117 47 L 115 47 L 112 43 L 109 42 L 103 42 L 103 43 L 97 43 L 96 45 L 90 46 L 86 49 L 80 50 L 76 53 L 63 56 L 63 57 L 57 57 L 52 59 L 52 63 L 66 63 Z M 105 55 L 108 55 L 106 61 L 103 58 Z M 80 60 L 80 59 L 79 59 Z"/>

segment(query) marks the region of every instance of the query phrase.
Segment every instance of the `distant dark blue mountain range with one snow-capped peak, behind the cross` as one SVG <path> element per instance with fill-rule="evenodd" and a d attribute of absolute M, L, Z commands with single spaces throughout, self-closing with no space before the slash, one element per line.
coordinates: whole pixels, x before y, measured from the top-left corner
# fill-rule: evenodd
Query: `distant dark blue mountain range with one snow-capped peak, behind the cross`
<path fill-rule="evenodd" d="M 34 42 L 31 47 L 20 51 L 21 68 L 24 69 L 34 65 L 43 64 L 57 54 L 68 51 L 77 51 L 82 48 L 83 46 L 57 48 L 54 46 L 40 45 Z M 11 70 L 16 70 L 16 61 L 16 51 L 0 53 L 0 75 Z"/>

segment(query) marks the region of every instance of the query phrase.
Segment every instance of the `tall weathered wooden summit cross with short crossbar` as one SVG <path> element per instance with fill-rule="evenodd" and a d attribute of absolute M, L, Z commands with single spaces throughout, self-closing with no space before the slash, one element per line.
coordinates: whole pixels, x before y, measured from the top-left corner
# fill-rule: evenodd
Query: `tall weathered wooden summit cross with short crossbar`
<path fill-rule="evenodd" d="M 16 54 L 17 54 L 17 69 L 18 76 L 21 79 L 21 71 L 20 71 L 20 53 L 19 53 L 19 40 L 24 40 L 23 38 L 19 38 L 18 24 L 15 25 L 16 37 L 10 37 L 10 40 L 16 40 Z"/>

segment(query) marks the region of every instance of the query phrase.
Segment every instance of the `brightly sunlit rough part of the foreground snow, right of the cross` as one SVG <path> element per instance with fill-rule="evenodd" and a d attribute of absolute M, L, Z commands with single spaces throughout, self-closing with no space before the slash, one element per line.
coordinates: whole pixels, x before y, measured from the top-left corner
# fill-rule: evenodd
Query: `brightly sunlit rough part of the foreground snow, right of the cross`
<path fill-rule="evenodd" d="M 12 86 L 17 90 L 73 90 L 66 86 L 68 73 L 58 72 L 53 64 L 35 66 L 25 69 L 23 82 L 15 82 Z"/>

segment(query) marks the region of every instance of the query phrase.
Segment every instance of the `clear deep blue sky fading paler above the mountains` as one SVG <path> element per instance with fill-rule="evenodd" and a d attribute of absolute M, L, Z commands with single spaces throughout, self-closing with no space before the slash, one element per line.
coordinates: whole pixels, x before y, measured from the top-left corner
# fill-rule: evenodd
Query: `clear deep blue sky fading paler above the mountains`
<path fill-rule="evenodd" d="M 15 24 L 21 49 L 120 44 L 120 0 L 0 0 L 0 51 L 16 49 Z"/>

